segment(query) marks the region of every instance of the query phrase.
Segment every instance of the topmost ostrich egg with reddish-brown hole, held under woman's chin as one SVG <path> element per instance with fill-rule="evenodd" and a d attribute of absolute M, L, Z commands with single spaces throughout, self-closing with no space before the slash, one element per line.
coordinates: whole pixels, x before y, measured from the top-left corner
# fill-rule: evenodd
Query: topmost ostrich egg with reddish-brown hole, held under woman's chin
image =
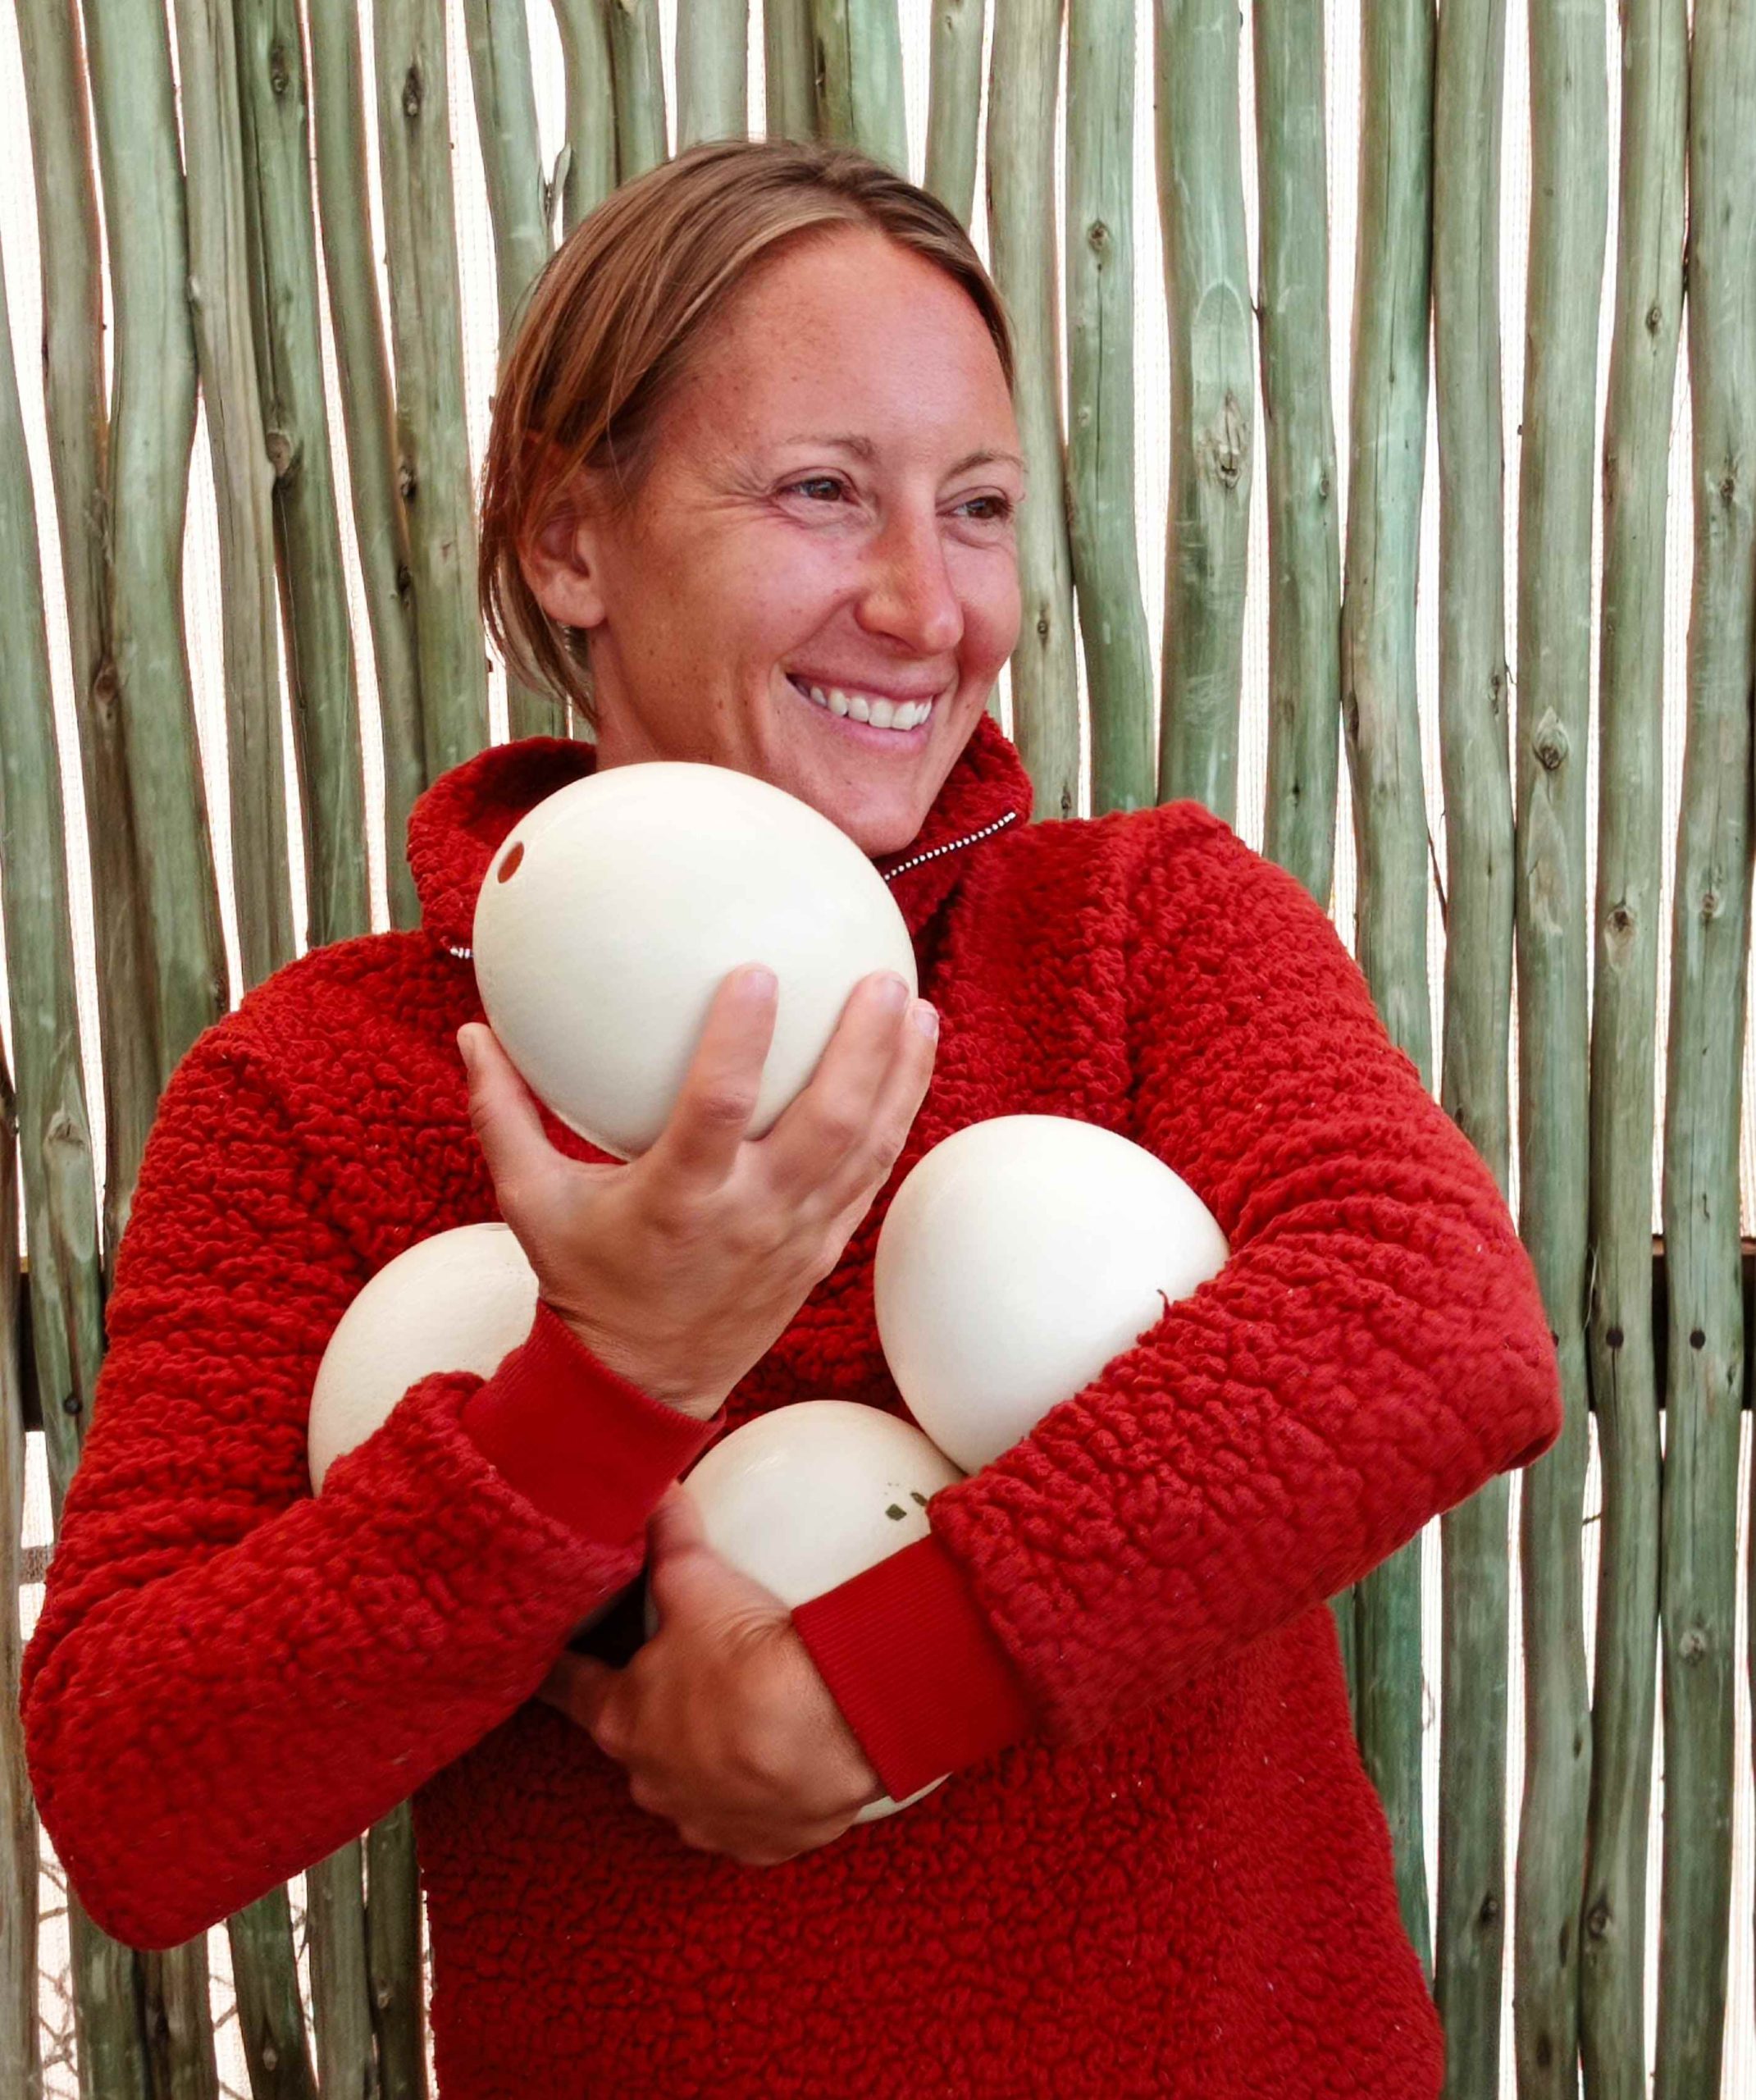
<path fill-rule="evenodd" d="M 729 766 L 611 766 L 506 836 L 475 907 L 475 981 L 531 1092 L 620 1159 L 664 1130 L 708 1004 L 779 979 L 750 1136 L 811 1077 L 872 970 L 916 985 L 884 878 L 828 817 Z"/>

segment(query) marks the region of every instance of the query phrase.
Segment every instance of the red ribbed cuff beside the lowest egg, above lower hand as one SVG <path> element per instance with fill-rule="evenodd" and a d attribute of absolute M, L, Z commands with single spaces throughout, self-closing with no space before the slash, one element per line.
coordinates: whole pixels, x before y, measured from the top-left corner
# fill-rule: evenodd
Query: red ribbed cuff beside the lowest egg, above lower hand
<path fill-rule="evenodd" d="M 1029 1735 L 1023 1684 L 933 1535 L 796 1604 L 792 1623 L 891 1800 Z"/>

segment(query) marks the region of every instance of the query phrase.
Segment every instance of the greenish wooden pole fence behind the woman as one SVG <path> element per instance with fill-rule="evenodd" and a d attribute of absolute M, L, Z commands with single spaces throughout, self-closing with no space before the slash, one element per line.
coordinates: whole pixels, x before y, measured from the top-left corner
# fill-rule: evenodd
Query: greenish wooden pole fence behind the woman
<path fill-rule="evenodd" d="M 17 1100 L 4 1088 L 0 1245 L 27 1222 L 25 1302 L 0 1262 L 0 1594 L 17 1596 L 21 1426 L 55 1508 L 78 1464 L 103 1292 L 153 1102 L 227 1000 L 181 609 L 195 391 L 223 569 L 229 813 L 244 983 L 368 926 L 361 653 L 382 752 L 391 916 L 412 798 L 487 737 L 450 134 L 475 134 L 500 326 L 552 242 L 674 145 L 748 128 L 748 0 L 689 0 L 664 107 L 655 0 L 552 0 L 567 143 L 538 147 L 523 0 L 462 0 L 471 80 L 447 78 L 443 0 L 15 0 L 42 233 L 53 514 L 90 813 L 103 1212 L 78 1054 L 50 662 L 13 363 L 0 359 L 0 850 Z M 1323 8 L 1254 0 L 1254 139 L 1235 0 L 939 0 L 926 183 L 987 242 L 1019 336 L 1019 422 L 1040 487 L 1019 559 L 1017 741 L 1038 811 L 1199 796 L 1235 815 L 1246 548 L 1260 386 L 1269 538 L 1262 838 L 1319 899 L 1346 754 L 1355 947 L 1380 1010 L 1510 1189 L 1517 953 L 1519 1222 L 1565 1373 L 1567 1428 L 1521 1495 L 1525 1793 L 1506 1858 L 1508 1483 L 1443 1520 L 1439 1880 L 1424 1871 L 1420 1558 L 1336 1619 L 1403 1913 L 1449 2037 L 1447 2094 L 1500 2090 L 1510 1957 L 1521 2096 L 1647 2090 L 1645 1907 L 1655 1630 L 1666 1825 L 1659 2092 L 1714 2094 L 1727 2020 L 1737 1460 L 1745 1308 L 1739 1077 L 1750 916 L 1756 590 L 1756 8 L 1624 0 L 1617 252 L 1605 0 L 1529 0 L 1531 220 L 1523 315 L 1500 311 L 1504 0 L 1361 0 L 1359 235 L 1346 519 L 1330 407 Z M 1067 40 L 1065 256 L 1054 105 Z M 172 92 L 181 74 L 181 149 Z M 767 122 L 905 162 L 895 0 L 767 0 Z M 1170 321 L 1170 514 L 1153 664 L 1134 536 L 1136 38 L 1153 40 Z M 376 92 L 389 330 L 365 212 Z M 1258 250 L 1243 212 L 1254 151 Z M 309 168 L 315 166 L 315 183 Z M 113 311 L 105 391 L 99 193 Z M 1685 197 L 1689 200 L 1685 204 Z M 1661 874 L 1661 615 L 1672 391 L 1685 321 L 1693 598 L 1676 836 L 1664 1247 L 1651 1176 Z M 1598 311 L 1613 269 L 1603 433 Z M 1254 286 L 1254 294 L 1252 294 Z M 340 376 L 330 424 L 319 298 Z M 1061 313 L 1067 363 L 1061 359 Z M 4 279 L 0 279 L 0 315 Z M 1506 662 L 1502 334 L 1523 328 L 1517 678 Z M 4 330 L 0 330 L 4 340 Z M 36 384 L 36 374 L 29 374 Z M 1424 483 L 1428 405 L 1439 487 Z M 363 628 L 349 617 L 334 460 L 344 447 Z M 1439 512 L 1445 1000 L 1435 1048 L 1435 855 L 1416 697 L 1416 571 Z M 1603 552 L 1592 582 L 1594 519 Z M 1078 628 L 1075 628 L 1078 607 Z M 279 653 L 286 651 L 281 666 Z M 1596 651 L 1598 714 L 1592 718 Z M 290 708 L 279 701 L 281 676 Z M 513 733 L 555 729 L 508 695 Z M 1155 733 L 1157 720 L 1157 733 Z M 1588 750 L 1598 737 L 1598 802 Z M 294 804 L 281 790 L 292 739 Z M 1596 823 L 1596 890 L 1586 895 Z M 288 880 L 290 834 L 305 895 Z M 1435 855 L 1435 872 L 1437 855 Z M 1588 1006 L 1588 951 L 1594 989 Z M 15 1168 L 17 1163 L 17 1178 Z M 1603 1451 L 1596 1682 L 1580 1554 L 1588 1407 Z M 1659 1460 L 1659 1409 L 1666 1420 Z M 0 1619 L 17 1680 L 17 1619 Z M 1748 1663 L 1745 1663 L 1748 1667 Z M 1592 1695 L 1594 1693 L 1594 1695 Z M 36 1848 L 0 1712 L 0 2092 L 38 2090 Z M 1506 1945 L 1508 1869 L 1517 1932 Z M 256 2094 L 422 2087 L 405 1812 L 309 1875 L 315 2048 L 286 1892 L 229 1922 Z M 71 1915 L 86 2094 L 208 2094 L 206 1947 L 137 1955 Z"/>

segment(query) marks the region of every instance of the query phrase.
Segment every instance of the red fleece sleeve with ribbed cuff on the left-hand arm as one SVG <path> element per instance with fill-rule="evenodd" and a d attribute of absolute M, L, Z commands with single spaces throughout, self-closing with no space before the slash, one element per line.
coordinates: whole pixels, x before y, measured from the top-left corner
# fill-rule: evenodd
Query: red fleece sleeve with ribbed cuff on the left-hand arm
<path fill-rule="evenodd" d="M 714 1432 L 597 1369 L 550 1315 L 494 1380 L 412 1386 L 313 1497 L 311 1384 L 365 1264 L 246 1014 L 191 1050 L 153 1124 L 23 1667 L 42 1821 L 134 1947 L 326 1856 L 531 1697 Z M 571 1403 L 576 1455 L 603 1460 L 546 1506 L 489 1455 L 534 1394 Z"/>

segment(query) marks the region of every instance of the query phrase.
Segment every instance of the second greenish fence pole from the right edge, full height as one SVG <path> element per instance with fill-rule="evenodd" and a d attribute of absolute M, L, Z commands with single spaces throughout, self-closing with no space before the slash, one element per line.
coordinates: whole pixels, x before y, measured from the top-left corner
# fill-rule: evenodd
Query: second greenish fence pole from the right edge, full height
<path fill-rule="evenodd" d="M 1622 8 L 1622 195 L 1603 437 L 1590 1384 L 1603 1462 L 1580 2050 L 1592 2100 L 1647 2096 L 1647 1831 L 1657 1682 L 1653 1058 L 1664 823 L 1664 571 L 1682 317 L 1689 19 Z"/>

